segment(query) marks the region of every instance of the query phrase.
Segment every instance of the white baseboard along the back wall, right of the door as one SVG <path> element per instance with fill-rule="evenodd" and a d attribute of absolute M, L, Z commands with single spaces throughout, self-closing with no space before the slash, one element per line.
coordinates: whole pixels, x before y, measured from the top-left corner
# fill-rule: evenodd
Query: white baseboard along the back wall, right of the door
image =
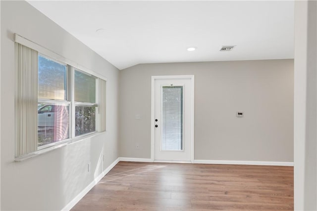
<path fill-rule="evenodd" d="M 287 166 L 293 167 L 293 162 L 271 161 L 221 161 L 221 160 L 194 160 L 194 164 L 229 164 L 229 165 L 259 165 L 259 166 Z"/>

